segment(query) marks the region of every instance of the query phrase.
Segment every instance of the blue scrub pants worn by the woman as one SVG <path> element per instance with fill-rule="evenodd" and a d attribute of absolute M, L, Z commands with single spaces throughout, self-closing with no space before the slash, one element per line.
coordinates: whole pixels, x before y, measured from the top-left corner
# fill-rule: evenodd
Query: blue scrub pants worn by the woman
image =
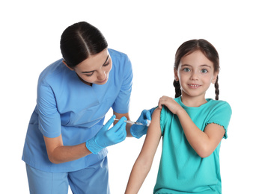
<path fill-rule="evenodd" d="M 33 194 L 110 194 L 109 167 L 105 157 L 98 163 L 75 172 L 44 172 L 26 164 L 28 185 Z"/>

